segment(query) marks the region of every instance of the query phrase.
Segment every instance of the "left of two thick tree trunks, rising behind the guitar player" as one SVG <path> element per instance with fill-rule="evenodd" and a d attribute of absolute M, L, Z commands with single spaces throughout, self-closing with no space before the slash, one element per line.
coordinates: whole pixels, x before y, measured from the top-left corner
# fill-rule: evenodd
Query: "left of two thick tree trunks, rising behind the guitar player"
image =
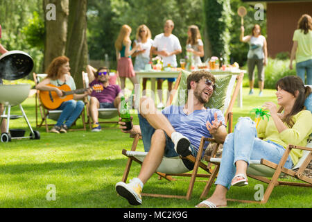
<path fill-rule="evenodd" d="M 67 21 L 69 15 L 69 0 L 44 0 L 44 14 L 49 12 L 46 6 L 52 3 L 55 6 L 55 19 L 44 16 L 46 26 L 46 40 L 44 46 L 44 70 L 52 60 L 64 56 L 67 42 Z M 53 10 L 50 9 L 50 10 Z"/>

